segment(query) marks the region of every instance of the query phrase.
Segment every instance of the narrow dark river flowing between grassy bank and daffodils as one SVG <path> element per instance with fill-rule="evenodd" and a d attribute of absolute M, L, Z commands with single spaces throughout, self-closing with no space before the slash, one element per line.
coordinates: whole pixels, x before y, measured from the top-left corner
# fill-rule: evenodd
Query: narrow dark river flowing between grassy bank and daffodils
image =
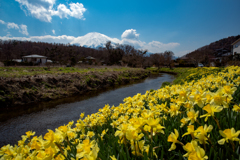
<path fill-rule="evenodd" d="M 124 98 L 137 93 L 145 94 L 150 89 L 159 89 L 163 82 L 172 82 L 174 78 L 174 75 L 159 74 L 134 84 L 5 110 L 4 121 L 0 122 L 0 147 L 17 144 L 21 135 L 27 131 L 35 131 L 37 136 L 44 135 L 47 129 L 55 130 L 72 120 L 76 122 L 82 112 L 90 115 L 98 112 L 105 104 L 118 106 L 119 103 L 123 103 Z"/>

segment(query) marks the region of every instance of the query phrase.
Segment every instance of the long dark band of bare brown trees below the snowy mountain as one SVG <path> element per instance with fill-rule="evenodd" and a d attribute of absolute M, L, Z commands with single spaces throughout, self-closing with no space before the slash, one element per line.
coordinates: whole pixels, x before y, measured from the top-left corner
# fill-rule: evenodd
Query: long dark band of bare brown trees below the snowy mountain
<path fill-rule="evenodd" d="M 129 67 L 171 67 L 174 53 L 151 53 L 147 50 L 138 50 L 127 44 L 112 44 L 106 42 L 105 47 L 98 49 L 81 47 L 70 44 L 0 40 L 0 61 L 9 62 L 13 59 L 21 59 L 26 55 L 43 55 L 59 65 L 76 65 L 79 61 L 85 61 L 87 56 L 96 59 L 96 65 L 125 65 Z"/>

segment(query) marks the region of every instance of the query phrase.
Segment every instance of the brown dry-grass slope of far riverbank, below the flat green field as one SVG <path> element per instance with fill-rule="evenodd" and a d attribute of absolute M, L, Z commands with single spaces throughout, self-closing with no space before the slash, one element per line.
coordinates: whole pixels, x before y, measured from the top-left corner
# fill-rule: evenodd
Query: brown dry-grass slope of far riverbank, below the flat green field
<path fill-rule="evenodd" d="M 149 74 L 150 72 L 144 69 L 129 68 L 124 71 L 58 73 L 18 78 L 1 77 L 0 107 L 84 94 L 91 90 L 144 79 Z"/>

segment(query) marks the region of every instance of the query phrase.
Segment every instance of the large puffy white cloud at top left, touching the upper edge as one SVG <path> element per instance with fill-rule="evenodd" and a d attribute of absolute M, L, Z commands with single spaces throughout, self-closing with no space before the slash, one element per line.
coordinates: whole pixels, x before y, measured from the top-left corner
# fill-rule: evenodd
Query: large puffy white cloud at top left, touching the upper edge
<path fill-rule="evenodd" d="M 37 19 L 45 22 L 51 22 L 52 16 L 60 18 L 74 17 L 85 20 L 83 13 L 87 10 L 82 3 L 70 3 L 68 8 L 64 4 L 54 7 L 56 0 L 15 0 L 20 3 L 21 9 L 25 14 L 30 13 Z M 57 8 L 57 10 L 55 10 Z"/>

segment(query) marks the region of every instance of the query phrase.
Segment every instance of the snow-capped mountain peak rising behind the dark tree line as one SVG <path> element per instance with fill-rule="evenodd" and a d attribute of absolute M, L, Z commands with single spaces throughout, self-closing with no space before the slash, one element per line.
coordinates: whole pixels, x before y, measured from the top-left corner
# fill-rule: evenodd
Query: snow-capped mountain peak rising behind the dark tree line
<path fill-rule="evenodd" d="M 101 33 L 91 32 L 84 36 L 75 38 L 74 41 L 71 42 L 71 44 L 75 44 L 83 47 L 89 47 L 89 48 L 99 48 L 99 47 L 105 47 L 105 44 L 107 41 L 111 41 L 112 44 L 121 42 L 117 38 L 110 38 Z"/>

